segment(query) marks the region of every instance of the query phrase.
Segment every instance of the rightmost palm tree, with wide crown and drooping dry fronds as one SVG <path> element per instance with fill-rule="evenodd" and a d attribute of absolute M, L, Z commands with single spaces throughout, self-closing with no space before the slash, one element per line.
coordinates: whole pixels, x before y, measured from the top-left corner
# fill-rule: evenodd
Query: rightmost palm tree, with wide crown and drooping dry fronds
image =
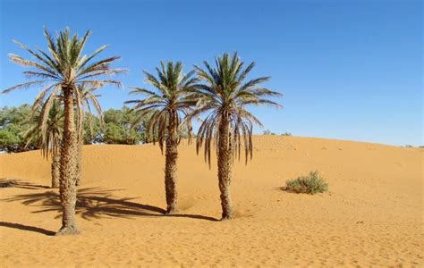
<path fill-rule="evenodd" d="M 196 85 L 194 96 L 199 100 L 198 107 L 189 116 L 209 112 L 201 123 L 197 135 L 196 150 L 205 143 L 205 161 L 210 168 L 210 150 L 212 140 L 215 139 L 218 181 L 221 191 L 222 219 L 233 218 L 233 208 L 230 195 L 231 167 L 233 157 L 240 159 L 241 148 L 244 148 L 245 160 L 248 161 L 253 153 L 252 128 L 256 123 L 262 126 L 259 119 L 246 110 L 248 105 L 271 105 L 279 107 L 270 96 L 281 94 L 260 86 L 269 80 L 269 77 L 245 81 L 247 75 L 255 66 L 250 63 L 243 70 L 237 53 L 230 58 L 224 54 L 216 58 L 216 67 L 212 68 L 204 62 L 206 70 L 194 66 L 199 80 L 203 83 Z"/>

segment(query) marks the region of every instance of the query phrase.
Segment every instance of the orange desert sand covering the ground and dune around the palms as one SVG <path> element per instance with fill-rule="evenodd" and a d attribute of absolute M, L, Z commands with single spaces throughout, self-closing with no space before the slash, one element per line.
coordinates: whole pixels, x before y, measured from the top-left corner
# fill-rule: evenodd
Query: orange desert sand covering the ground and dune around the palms
<path fill-rule="evenodd" d="M 57 190 L 39 152 L 0 155 L 0 264 L 8 266 L 423 265 L 423 150 L 318 138 L 256 137 L 236 163 L 237 218 L 220 216 L 216 168 L 194 147 L 179 159 L 181 214 L 163 216 L 158 147 L 84 147 L 77 237 L 60 227 Z M 330 193 L 286 193 L 284 181 L 318 170 Z M 25 183 L 27 185 L 25 185 Z"/>

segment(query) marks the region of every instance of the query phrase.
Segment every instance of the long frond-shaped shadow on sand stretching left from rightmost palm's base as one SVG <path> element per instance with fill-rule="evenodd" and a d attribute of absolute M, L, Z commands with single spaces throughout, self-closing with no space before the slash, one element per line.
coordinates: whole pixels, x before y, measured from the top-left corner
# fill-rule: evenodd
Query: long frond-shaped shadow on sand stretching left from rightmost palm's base
<path fill-rule="evenodd" d="M 184 217 L 198 220 L 213 221 L 213 217 L 197 214 L 170 214 L 166 215 L 165 210 L 154 206 L 131 202 L 136 197 L 114 197 L 112 192 L 116 189 L 103 188 L 81 188 L 78 190 L 76 214 L 80 214 L 85 220 L 91 221 L 101 217 L 121 217 L 132 218 L 135 216 L 149 217 Z M 3 199 L 6 202 L 21 201 L 23 205 L 40 207 L 33 213 L 57 212 L 55 218 L 60 217 L 62 206 L 57 192 L 49 190 L 42 193 L 31 193 L 17 195 L 15 197 Z"/>

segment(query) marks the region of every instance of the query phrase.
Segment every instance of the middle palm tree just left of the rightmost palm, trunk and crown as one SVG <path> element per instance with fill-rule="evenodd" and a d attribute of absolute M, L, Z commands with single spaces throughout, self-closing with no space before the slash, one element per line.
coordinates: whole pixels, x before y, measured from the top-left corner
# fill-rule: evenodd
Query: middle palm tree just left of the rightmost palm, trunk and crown
<path fill-rule="evenodd" d="M 193 78 L 194 71 L 183 74 L 182 63 L 161 62 L 161 69 L 156 68 L 158 79 L 144 71 L 146 80 L 156 88 L 150 91 L 146 88 L 133 88 L 131 94 L 143 94 L 144 99 L 127 101 L 127 104 L 135 104 L 134 110 L 143 115 L 151 114 L 148 125 L 148 139 L 159 143 L 163 153 L 164 142 L 165 151 L 165 193 L 166 193 L 166 213 L 177 212 L 177 191 L 176 191 L 176 171 L 178 158 L 178 144 L 180 143 L 182 128 L 188 126 L 191 129 L 190 121 L 182 121 L 182 115 L 191 113 L 191 108 L 196 104 L 188 96 L 188 92 L 193 90 L 198 81 Z"/>

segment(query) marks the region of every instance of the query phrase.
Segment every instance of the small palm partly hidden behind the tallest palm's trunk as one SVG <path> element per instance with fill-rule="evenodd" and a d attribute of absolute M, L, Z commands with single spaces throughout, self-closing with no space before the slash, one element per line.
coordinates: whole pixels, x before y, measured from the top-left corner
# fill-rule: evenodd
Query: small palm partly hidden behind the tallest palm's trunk
<path fill-rule="evenodd" d="M 34 107 L 32 110 L 30 129 L 24 135 L 27 140 L 26 147 L 35 143 L 46 159 L 51 157 L 52 188 L 59 188 L 59 161 L 64 130 L 64 110 L 59 105 L 59 102 L 55 100 L 48 113 L 48 119 L 45 122 L 47 124 L 46 127 L 39 125 L 41 110 L 42 106 Z"/>

